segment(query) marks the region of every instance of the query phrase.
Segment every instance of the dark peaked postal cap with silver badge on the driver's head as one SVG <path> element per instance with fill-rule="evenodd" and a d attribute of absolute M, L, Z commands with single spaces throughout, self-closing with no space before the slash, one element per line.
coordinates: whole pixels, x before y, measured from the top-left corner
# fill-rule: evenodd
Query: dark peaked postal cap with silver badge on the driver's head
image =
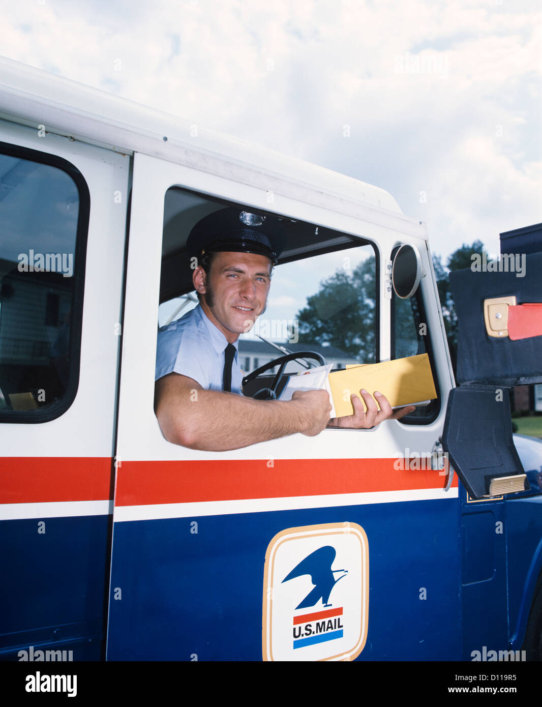
<path fill-rule="evenodd" d="M 221 251 L 256 253 L 276 265 L 283 245 L 284 230 L 278 218 L 228 208 L 196 223 L 187 240 L 187 251 L 189 257 Z"/>

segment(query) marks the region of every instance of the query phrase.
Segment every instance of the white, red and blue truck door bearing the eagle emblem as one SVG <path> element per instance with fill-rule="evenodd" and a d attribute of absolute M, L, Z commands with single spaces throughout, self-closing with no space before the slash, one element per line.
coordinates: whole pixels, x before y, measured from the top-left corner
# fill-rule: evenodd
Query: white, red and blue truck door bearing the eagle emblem
<path fill-rule="evenodd" d="M 218 205 L 256 213 L 267 213 L 270 207 L 266 192 L 252 185 L 252 173 L 240 177 L 237 171 L 233 179 L 225 158 L 218 155 L 216 160 L 220 174 L 210 175 L 208 165 L 204 170 L 134 156 L 107 660 L 456 659 L 457 488 L 444 491 L 439 468 L 410 465 L 410 450 L 418 450 L 418 457 L 430 455 L 442 431 L 440 401 L 434 418 L 420 416 L 411 424 L 391 420 L 372 431 L 327 428 L 316 437 L 293 434 L 226 451 L 174 445 L 160 431 L 153 410 L 159 302 L 168 305 L 192 291 L 192 271 L 183 255 L 187 235 Z M 291 194 L 290 182 L 280 182 L 276 192 L 279 187 L 290 196 L 281 197 L 273 213 L 287 215 L 297 226 L 287 244 L 288 257 L 273 273 L 278 304 L 270 300 L 259 333 L 269 340 L 296 339 L 295 327 L 291 337 L 288 332 L 283 336 L 280 327 L 303 320 L 297 310 L 317 295 L 322 279 L 334 278 L 341 296 L 327 314 L 323 307 L 318 310 L 326 333 L 350 307 L 347 322 L 372 322 L 358 346 L 365 346 L 363 361 L 390 358 L 395 353 L 392 300 L 385 294 L 387 279 L 379 273 L 386 271 L 398 233 L 401 240 L 418 244 L 429 271 L 425 229 L 400 214 L 385 214 L 384 222 L 380 210 L 371 218 L 381 219 L 381 225 L 369 221 L 365 212 L 350 216 L 323 206 L 316 209 L 302 200 L 305 191 Z M 181 286 L 185 275 L 186 288 Z M 354 275 L 363 282 L 363 291 L 358 285 L 350 288 Z M 297 298 L 293 285 L 300 283 Z M 427 303 L 427 319 L 421 321 L 427 322 L 435 378 L 444 395 L 452 378 L 429 277 L 420 285 L 420 303 Z M 184 314 L 184 302 L 171 304 L 167 317 Z M 291 309 L 273 315 L 272 307 L 283 305 Z M 396 322 L 397 331 L 401 322 Z M 404 328 L 418 332 L 415 325 L 411 312 L 410 327 Z M 359 337 L 360 329 L 353 326 L 348 331 Z M 341 367 L 362 362 L 338 351 L 345 342 L 346 337 L 334 337 L 336 349 L 323 347 L 327 363 L 332 351 Z M 407 343 L 416 351 L 418 334 Z M 298 345 L 305 347 L 307 341 Z M 276 358 L 276 349 L 266 351 L 264 342 L 254 346 L 260 348 L 240 349 L 245 373 Z M 297 341 L 285 346 L 297 346 Z M 305 534 L 310 535 L 307 548 Z M 343 538 L 357 543 L 348 545 L 345 557 L 339 547 Z M 336 585 L 337 592 L 345 592 L 346 603 L 341 598 L 343 603 L 331 610 L 353 619 L 348 626 L 341 619 L 338 626 L 339 614 L 334 615 L 331 624 L 337 633 L 330 629 L 324 641 L 312 643 L 307 626 L 316 634 L 318 620 L 318 632 L 323 631 L 320 618 L 330 610 L 329 602 L 314 595 L 309 602 L 310 575 L 285 578 L 306 557 L 322 548 L 328 556 L 335 546 L 339 554 L 331 572 L 348 570 L 348 575 Z M 278 554 L 283 547 L 285 555 Z M 318 616 L 309 619 L 307 614 Z M 354 628 L 350 641 L 348 632 Z M 305 638 L 311 642 L 293 643 Z"/>

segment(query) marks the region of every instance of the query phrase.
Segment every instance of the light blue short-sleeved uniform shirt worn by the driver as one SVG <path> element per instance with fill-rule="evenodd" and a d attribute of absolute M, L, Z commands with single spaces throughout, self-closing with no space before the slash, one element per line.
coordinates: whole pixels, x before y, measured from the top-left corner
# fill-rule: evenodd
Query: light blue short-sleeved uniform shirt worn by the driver
<path fill-rule="evenodd" d="M 241 395 L 242 373 L 235 341 L 232 393 Z M 168 373 L 187 375 L 205 390 L 222 390 L 224 349 L 228 340 L 200 305 L 184 317 L 158 329 L 155 380 Z"/>

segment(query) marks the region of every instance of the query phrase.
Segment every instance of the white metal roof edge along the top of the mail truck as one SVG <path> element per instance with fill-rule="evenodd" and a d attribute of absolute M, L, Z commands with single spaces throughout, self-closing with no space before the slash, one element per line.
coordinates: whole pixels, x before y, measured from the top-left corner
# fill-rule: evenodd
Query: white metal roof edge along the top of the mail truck
<path fill-rule="evenodd" d="M 240 181 L 250 168 L 265 189 L 270 188 L 269 180 L 262 177 L 274 177 L 295 184 L 298 193 L 316 189 L 322 196 L 402 214 L 391 194 L 379 187 L 4 57 L 0 57 L 0 117 L 213 174 L 225 175 L 226 164 L 227 176 L 234 180 L 236 168 Z"/>

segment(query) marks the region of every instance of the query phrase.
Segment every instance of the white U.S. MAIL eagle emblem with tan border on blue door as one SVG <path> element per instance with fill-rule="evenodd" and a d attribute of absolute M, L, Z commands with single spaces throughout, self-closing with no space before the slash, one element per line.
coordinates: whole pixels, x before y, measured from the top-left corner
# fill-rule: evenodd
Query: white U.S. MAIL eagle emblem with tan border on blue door
<path fill-rule="evenodd" d="M 369 547 L 350 522 L 288 528 L 266 552 L 264 660 L 353 660 L 365 645 Z"/>

